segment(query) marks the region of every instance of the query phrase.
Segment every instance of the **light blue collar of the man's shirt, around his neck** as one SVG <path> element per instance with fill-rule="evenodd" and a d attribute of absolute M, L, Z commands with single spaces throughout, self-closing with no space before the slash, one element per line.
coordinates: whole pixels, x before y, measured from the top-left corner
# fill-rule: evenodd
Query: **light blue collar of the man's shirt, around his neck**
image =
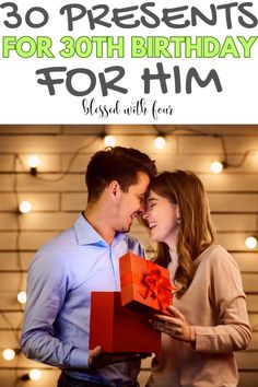
<path fill-rule="evenodd" d="M 95 228 L 85 220 L 82 213 L 80 213 L 77 222 L 74 223 L 74 232 L 77 235 L 79 245 L 101 245 L 108 246 L 107 243 L 103 239 L 103 237 L 96 232 Z M 117 233 L 113 245 L 120 239 L 124 239 L 126 235 L 124 233 Z"/>

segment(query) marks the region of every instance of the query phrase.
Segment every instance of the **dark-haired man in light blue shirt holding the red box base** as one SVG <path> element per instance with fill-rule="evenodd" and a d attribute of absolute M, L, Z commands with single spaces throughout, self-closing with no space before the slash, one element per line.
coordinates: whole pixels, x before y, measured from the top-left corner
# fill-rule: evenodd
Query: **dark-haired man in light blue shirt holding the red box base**
<path fill-rule="evenodd" d="M 21 347 L 27 357 L 63 370 L 58 387 L 138 385 L 139 359 L 104 355 L 101 347 L 89 350 L 90 305 L 92 291 L 120 290 L 119 257 L 129 250 L 143 255 L 140 243 L 125 233 L 143 213 L 155 173 L 138 150 L 97 152 L 86 171 L 86 210 L 30 266 Z"/>

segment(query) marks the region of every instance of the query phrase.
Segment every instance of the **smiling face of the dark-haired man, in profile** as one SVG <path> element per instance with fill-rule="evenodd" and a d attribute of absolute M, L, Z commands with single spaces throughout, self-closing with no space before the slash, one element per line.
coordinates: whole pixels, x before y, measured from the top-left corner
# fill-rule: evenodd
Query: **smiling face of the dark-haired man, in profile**
<path fill-rule="evenodd" d="M 120 195 L 115 212 L 115 230 L 128 233 L 133 218 L 138 218 L 145 210 L 145 195 L 150 178 L 144 173 L 138 173 L 138 181 L 129 186 L 127 192 Z"/>

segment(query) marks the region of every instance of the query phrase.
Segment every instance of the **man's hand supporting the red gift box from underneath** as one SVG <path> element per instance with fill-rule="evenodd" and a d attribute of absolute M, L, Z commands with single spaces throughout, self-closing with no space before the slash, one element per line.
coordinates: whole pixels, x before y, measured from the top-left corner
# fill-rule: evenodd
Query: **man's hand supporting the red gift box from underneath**
<path fill-rule="evenodd" d="M 129 362 L 137 359 L 144 359 L 151 356 L 151 353 L 107 353 L 103 352 L 101 345 L 95 347 L 90 351 L 89 366 L 91 368 L 101 368 L 106 365 L 120 362 Z"/>

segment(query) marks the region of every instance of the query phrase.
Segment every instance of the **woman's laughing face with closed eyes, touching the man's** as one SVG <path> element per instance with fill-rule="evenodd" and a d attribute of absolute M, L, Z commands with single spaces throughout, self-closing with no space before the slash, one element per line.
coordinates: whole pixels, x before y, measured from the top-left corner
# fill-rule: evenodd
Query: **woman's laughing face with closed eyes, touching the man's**
<path fill-rule="evenodd" d="M 146 198 L 146 211 L 143 218 L 148 221 L 153 242 L 171 245 L 176 241 L 179 228 L 177 204 L 151 190 Z"/>

